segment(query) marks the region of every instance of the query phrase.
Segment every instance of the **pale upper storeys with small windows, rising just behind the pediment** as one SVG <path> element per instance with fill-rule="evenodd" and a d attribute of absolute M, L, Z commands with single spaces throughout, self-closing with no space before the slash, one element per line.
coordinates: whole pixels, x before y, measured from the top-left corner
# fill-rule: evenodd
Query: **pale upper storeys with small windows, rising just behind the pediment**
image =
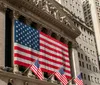
<path fill-rule="evenodd" d="M 81 0 L 56 0 L 67 8 L 74 16 L 84 21 L 83 8 Z"/>

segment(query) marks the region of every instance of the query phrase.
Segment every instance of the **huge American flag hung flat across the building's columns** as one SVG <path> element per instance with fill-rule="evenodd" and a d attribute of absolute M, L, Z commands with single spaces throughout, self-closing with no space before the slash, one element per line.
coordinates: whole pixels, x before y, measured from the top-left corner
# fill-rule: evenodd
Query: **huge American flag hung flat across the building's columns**
<path fill-rule="evenodd" d="M 54 73 L 64 67 L 65 75 L 71 78 L 68 46 L 15 20 L 14 64 L 28 67 L 39 59 L 43 72 Z"/>

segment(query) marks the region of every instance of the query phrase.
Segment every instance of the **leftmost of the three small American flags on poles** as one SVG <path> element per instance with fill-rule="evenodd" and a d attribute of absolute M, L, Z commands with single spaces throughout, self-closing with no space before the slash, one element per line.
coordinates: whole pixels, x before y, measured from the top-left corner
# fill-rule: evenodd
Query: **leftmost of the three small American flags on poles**
<path fill-rule="evenodd" d="M 42 70 L 40 68 L 39 60 L 36 60 L 35 63 L 30 67 L 30 69 L 34 72 L 35 75 L 38 76 L 40 80 L 43 80 Z"/>

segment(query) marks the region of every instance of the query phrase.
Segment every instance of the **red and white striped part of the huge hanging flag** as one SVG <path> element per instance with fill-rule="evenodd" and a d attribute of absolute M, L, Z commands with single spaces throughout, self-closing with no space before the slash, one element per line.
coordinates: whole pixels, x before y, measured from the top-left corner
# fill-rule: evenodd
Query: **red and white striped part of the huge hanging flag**
<path fill-rule="evenodd" d="M 44 37 L 41 37 L 41 35 Z M 49 41 L 47 39 L 49 39 Z M 43 43 L 42 43 L 42 41 L 43 41 Z M 45 45 L 46 43 L 49 45 L 52 45 L 55 48 Z M 22 45 L 17 46 L 17 44 L 14 46 L 14 50 L 15 50 L 14 51 L 15 52 L 14 53 L 14 56 L 15 56 L 14 63 L 15 64 L 19 64 L 19 65 L 27 67 L 27 66 L 29 66 L 28 62 L 34 61 L 36 58 L 39 57 L 40 64 L 43 66 L 41 68 L 44 72 L 46 71 L 49 73 L 54 73 L 54 71 L 58 70 L 61 66 L 64 66 L 66 77 L 71 78 L 71 76 L 70 76 L 71 75 L 70 60 L 69 60 L 67 45 L 59 42 L 56 39 L 53 39 L 52 37 L 50 37 L 48 35 L 45 35 L 44 33 L 41 33 L 40 34 L 40 52 L 34 51 L 31 48 L 29 48 L 29 49 L 27 49 L 27 48 L 28 47 L 25 47 Z M 23 54 L 17 53 L 17 51 L 22 52 Z M 29 55 L 29 56 L 27 56 L 27 55 Z M 22 62 L 21 62 L 21 60 L 17 60 L 17 58 L 18 59 L 22 58 Z M 56 60 L 56 58 L 57 58 L 57 60 Z M 26 62 L 23 62 L 24 60 Z M 50 62 L 51 62 L 51 64 L 50 64 Z M 54 63 L 54 65 L 53 65 L 53 63 Z M 68 70 L 67 70 L 67 68 L 68 68 Z"/>

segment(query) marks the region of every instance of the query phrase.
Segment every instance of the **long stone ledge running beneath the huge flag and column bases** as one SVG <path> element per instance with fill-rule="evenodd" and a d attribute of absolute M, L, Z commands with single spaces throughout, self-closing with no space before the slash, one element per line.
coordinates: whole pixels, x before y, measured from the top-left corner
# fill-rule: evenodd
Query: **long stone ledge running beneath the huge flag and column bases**
<path fill-rule="evenodd" d="M 28 78 L 27 76 L 13 74 L 11 72 L 5 72 L 5 71 L 0 71 L 0 78 L 2 78 L 2 77 L 6 77 L 6 78 L 8 77 L 8 78 L 12 78 L 12 79 L 27 81 L 27 82 L 35 83 L 36 85 L 40 85 L 40 84 L 41 85 L 57 85 L 57 84 L 54 84 L 54 83 L 50 83 L 50 82 L 46 82 L 46 81 L 40 81 L 39 79 Z"/>

